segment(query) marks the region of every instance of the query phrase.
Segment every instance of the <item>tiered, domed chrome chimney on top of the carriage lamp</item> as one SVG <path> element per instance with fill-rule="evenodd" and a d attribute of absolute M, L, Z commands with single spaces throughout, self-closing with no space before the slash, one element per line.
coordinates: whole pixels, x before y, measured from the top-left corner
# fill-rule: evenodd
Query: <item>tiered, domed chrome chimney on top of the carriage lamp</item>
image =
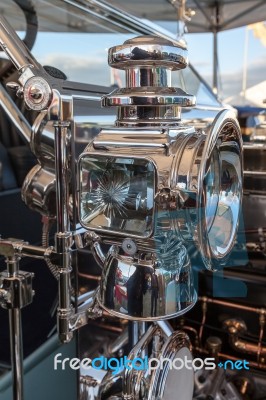
<path fill-rule="evenodd" d="M 102 99 L 118 106 L 117 126 L 160 126 L 180 123 L 181 107 L 193 107 L 195 96 L 171 87 L 171 72 L 186 68 L 187 49 L 156 36 L 139 36 L 112 47 L 109 65 L 126 72 L 126 87 Z"/>

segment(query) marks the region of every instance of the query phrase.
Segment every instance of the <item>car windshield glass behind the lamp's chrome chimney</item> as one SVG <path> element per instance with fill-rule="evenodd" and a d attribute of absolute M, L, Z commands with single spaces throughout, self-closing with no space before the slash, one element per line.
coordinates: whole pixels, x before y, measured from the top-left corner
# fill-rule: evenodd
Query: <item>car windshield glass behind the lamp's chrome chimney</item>
<path fill-rule="evenodd" d="M 27 10 L 24 15 L 16 2 L 24 4 Z M 38 34 L 31 49 L 33 55 L 42 65 L 60 69 L 71 81 L 121 87 L 124 72 L 111 69 L 107 63 L 110 47 L 145 33 L 145 29 L 147 33 L 152 29 L 175 40 L 171 33 L 146 20 L 141 23 L 134 17 L 127 18 L 126 14 L 113 14 L 109 9 L 93 6 L 94 2 L 86 1 L 83 5 L 74 0 L 38 0 L 34 6 L 28 3 L 29 0 L 6 0 L 3 15 L 23 38 L 25 30 L 33 25 L 30 13 L 35 14 Z M 34 34 L 34 26 L 30 29 Z M 173 73 L 172 86 L 196 95 L 198 104 L 220 106 L 210 88 L 190 67 Z"/>

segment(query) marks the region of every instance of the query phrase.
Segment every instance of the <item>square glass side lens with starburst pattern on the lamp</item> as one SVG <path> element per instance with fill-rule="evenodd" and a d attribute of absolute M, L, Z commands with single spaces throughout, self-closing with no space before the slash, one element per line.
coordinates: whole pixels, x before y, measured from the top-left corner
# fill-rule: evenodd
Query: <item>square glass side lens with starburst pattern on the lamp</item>
<path fill-rule="evenodd" d="M 87 155 L 80 161 L 80 222 L 93 230 L 149 237 L 155 167 L 140 158 Z"/>

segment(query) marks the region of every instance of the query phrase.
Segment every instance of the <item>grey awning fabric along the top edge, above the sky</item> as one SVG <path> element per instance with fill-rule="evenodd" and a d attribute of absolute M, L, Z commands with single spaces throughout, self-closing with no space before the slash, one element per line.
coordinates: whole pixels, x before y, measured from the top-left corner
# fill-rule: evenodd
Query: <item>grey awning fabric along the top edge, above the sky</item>
<path fill-rule="evenodd" d="M 175 21 L 177 0 L 107 0 L 121 10 L 151 21 Z M 266 0 L 187 0 L 196 11 L 189 32 L 223 31 L 266 20 Z"/>

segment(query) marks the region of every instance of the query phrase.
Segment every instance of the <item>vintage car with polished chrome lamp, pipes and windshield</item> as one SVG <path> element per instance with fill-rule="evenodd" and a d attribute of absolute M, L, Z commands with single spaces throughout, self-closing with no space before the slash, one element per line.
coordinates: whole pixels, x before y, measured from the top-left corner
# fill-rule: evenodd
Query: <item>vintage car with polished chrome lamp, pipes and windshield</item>
<path fill-rule="evenodd" d="M 0 398 L 262 400 L 264 145 L 112 3 L 1 4 Z"/>

